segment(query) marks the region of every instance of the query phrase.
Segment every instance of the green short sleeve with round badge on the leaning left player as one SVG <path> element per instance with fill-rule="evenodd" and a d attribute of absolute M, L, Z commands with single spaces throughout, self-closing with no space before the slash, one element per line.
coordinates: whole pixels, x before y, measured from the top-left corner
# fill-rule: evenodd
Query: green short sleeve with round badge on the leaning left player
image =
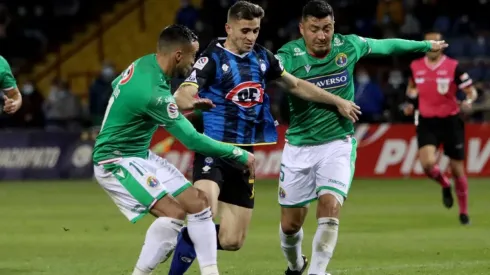
<path fill-rule="evenodd" d="M 155 123 L 163 127 L 171 127 L 184 116 L 179 112 L 174 97 L 167 90 L 160 87 L 157 89 L 160 91 L 153 93 L 149 99 L 147 114 Z"/>

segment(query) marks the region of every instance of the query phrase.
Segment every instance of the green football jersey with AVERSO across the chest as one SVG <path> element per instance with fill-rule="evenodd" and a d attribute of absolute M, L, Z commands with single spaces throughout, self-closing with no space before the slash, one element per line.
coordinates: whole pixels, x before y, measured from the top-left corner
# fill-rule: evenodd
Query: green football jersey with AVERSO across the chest
<path fill-rule="evenodd" d="M 309 55 L 303 38 L 285 44 L 276 57 L 288 73 L 326 92 L 354 100 L 354 67 L 369 52 L 369 43 L 364 38 L 334 34 L 332 49 L 324 58 Z M 286 139 L 290 144 L 321 144 L 354 133 L 353 123 L 335 106 L 305 101 L 291 94 L 288 99 L 290 124 Z"/>

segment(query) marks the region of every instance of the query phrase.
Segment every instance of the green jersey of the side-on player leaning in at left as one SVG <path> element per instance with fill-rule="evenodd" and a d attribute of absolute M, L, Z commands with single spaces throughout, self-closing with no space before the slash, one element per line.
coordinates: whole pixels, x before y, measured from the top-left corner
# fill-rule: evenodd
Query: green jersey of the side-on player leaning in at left
<path fill-rule="evenodd" d="M 94 162 L 118 157 L 147 158 L 159 125 L 171 127 L 180 114 L 170 92 L 170 77 L 160 69 L 155 54 L 133 62 L 113 82 Z"/>

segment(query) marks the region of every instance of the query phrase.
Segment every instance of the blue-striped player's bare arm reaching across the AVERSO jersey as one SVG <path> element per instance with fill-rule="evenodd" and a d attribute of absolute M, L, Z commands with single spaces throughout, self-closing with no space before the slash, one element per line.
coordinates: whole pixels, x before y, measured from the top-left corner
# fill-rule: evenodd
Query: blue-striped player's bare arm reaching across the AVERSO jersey
<path fill-rule="evenodd" d="M 278 83 L 283 86 L 286 91 L 289 91 L 299 98 L 307 101 L 335 105 L 344 117 L 352 120 L 352 122 L 359 120 L 358 115 L 361 114 L 361 109 L 352 101 L 345 100 L 337 95 L 326 92 L 314 84 L 299 79 L 287 72 L 282 74 Z"/>

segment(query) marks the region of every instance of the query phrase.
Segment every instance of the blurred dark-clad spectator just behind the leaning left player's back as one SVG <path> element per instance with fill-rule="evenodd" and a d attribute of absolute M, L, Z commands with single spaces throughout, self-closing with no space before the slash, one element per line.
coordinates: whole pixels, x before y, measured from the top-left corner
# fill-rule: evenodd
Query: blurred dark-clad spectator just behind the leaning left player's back
<path fill-rule="evenodd" d="M 89 111 L 93 126 L 100 126 L 104 118 L 105 108 L 112 94 L 112 81 L 116 71 L 111 63 L 105 63 L 99 76 L 90 86 Z"/>

